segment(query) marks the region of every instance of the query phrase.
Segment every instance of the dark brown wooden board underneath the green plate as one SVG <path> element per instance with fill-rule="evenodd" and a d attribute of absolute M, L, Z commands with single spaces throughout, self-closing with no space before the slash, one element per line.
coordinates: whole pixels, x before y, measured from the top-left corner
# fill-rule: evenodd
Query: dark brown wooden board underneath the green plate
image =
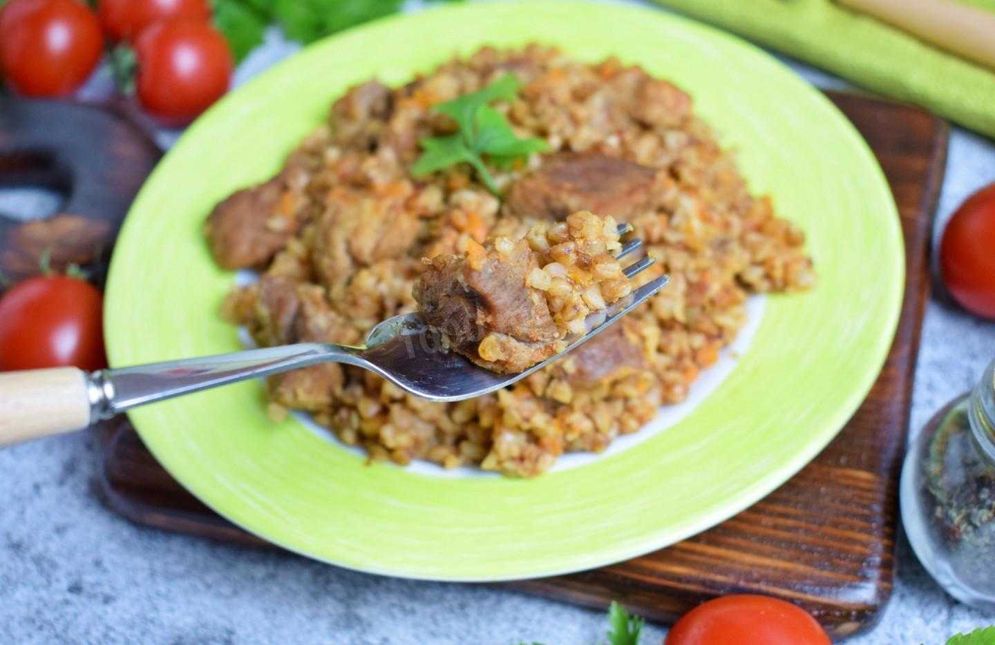
<path fill-rule="evenodd" d="M 663 622 L 702 600 L 732 592 L 797 602 L 838 637 L 877 621 L 895 573 L 896 482 L 929 288 L 929 232 L 947 127 L 917 108 L 850 94 L 831 97 L 877 153 L 905 236 L 908 282 L 901 322 L 868 400 L 810 465 L 721 525 L 629 562 L 509 586 L 592 607 L 618 599 Z M 266 544 L 214 515 L 171 479 L 126 419 L 100 432 L 103 489 L 112 509 L 169 531 Z"/>

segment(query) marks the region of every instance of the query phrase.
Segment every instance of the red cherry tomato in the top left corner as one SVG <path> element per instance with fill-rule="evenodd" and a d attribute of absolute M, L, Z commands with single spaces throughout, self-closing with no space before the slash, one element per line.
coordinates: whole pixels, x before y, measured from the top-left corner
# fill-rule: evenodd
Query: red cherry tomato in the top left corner
<path fill-rule="evenodd" d="M 27 96 L 64 96 L 103 53 L 97 16 L 79 0 L 10 0 L 0 9 L 0 68 Z"/>

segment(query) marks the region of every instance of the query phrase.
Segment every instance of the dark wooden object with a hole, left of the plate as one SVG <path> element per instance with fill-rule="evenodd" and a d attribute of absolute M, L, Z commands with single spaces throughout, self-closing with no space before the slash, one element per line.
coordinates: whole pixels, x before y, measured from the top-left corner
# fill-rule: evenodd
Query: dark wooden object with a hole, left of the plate
<path fill-rule="evenodd" d="M 64 200 L 50 218 L 0 213 L 0 271 L 9 279 L 87 265 L 98 276 L 135 193 L 161 152 L 144 131 L 100 107 L 0 95 L 0 188 L 38 187 Z"/>

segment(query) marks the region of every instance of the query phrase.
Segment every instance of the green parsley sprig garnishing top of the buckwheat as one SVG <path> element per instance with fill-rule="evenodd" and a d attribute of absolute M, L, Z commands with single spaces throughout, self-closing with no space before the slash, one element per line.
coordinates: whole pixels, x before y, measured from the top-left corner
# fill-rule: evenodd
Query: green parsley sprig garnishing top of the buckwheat
<path fill-rule="evenodd" d="M 495 100 L 513 99 L 519 87 L 518 80 L 506 74 L 479 91 L 436 105 L 437 111 L 456 121 L 459 131 L 422 139 L 423 153 L 411 167 L 411 174 L 424 177 L 458 163 L 468 163 L 488 190 L 497 195 L 494 177 L 484 162 L 485 155 L 493 165 L 506 168 L 516 159 L 549 147 L 536 137 L 519 138 L 504 115 L 490 105 Z"/>

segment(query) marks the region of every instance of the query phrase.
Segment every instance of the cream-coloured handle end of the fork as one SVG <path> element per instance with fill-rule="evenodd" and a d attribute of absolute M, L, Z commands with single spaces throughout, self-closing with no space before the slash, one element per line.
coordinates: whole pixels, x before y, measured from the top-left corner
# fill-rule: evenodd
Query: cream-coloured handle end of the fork
<path fill-rule="evenodd" d="M 0 445 L 90 425 L 87 373 L 77 368 L 0 373 Z"/>

